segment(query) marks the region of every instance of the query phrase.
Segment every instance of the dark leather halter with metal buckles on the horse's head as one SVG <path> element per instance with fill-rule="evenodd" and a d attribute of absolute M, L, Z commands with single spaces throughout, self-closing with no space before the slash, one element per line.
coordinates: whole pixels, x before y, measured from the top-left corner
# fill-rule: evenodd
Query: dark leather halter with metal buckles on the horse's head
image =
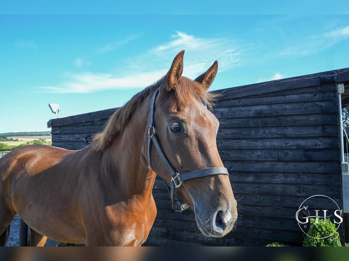
<path fill-rule="evenodd" d="M 182 212 L 186 208 L 188 208 L 188 204 L 180 204 L 177 196 L 174 194 L 174 190 L 176 188 L 179 188 L 183 181 L 196 179 L 198 177 L 205 177 L 205 176 L 211 176 L 211 175 L 218 175 L 218 174 L 224 174 L 228 175 L 228 169 L 225 167 L 212 167 L 212 168 L 203 168 L 198 169 L 196 171 L 190 171 L 186 173 L 179 173 L 174 169 L 168 158 L 166 157 L 164 151 L 161 148 L 161 145 L 157 139 L 156 133 L 155 133 L 155 126 L 154 126 L 154 112 L 155 112 L 155 100 L 156 96 L 159 93 L 159 88 L 157 88 L 153 94 L 153 97 L 151 98 L 151 104 L 150 104 L 150 113 L 149 113 L 149 129 L 148 129 L 148 165 L 151 169 L 153 169 L 151 165 L 151 158 L 150 158 L 150 152 L 151 152 L 151 142 L 153 141 L 155 149 L 157 150 L 161 161 L 167 168 L 168 172 L 170 173 L 172 179 L 171 179 L 171 188 L 169 189 L 167 183 L 166 188 L 170 193 L 171 200 L 172 200 L 172 208 L 175 212 Z M 154 171 L 154 169 L 153 169 Z"/>

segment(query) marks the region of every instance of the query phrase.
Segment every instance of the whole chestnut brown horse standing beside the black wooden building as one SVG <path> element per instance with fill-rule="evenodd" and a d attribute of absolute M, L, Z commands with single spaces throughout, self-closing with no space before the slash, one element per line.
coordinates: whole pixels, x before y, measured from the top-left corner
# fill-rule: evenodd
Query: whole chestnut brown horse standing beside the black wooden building
<path fill-rule="evenodd" d="M 47 237 L 88 246 L 141 245 L 156 216 L 156 173 L 171 184 L 154 148 L 154 171 L 147 163 L 149 108 L 157 89 L 156 133 L 172 166 L 181 173 L 223 166 L 218 120 L 203 104 L 214 100 L 207 89 L 218 64 L 193 81 L 181 77 L 183 54 L 162 79 L 117 110 L 86 148 L 30 145 L 0 159 L 1 245 L 16 213 L 31 229 L 31 246 L 43 246 Z M 194 211 L 205 236 L 222 237 L 232 229 L 237 210 L 227 175 L 187 180 L 176 194 Z"/>

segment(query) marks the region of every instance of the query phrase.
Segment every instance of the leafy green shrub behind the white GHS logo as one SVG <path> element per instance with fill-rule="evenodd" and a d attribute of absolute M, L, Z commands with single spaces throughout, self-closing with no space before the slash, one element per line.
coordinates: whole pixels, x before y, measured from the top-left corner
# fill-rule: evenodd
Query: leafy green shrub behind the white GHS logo
<path fill-rule="evenodd" d="M 336 225 L 331 220 L 327 219 L 326 223 L 324 223 L 324 220 L 319 218 L 318 223 L 315 223 L 315 219 L 311 218 L 309 221 L 312 226 L 307 233 L 309 236 L 321 238 L 329 236 L 332 233 L 333 235 L 322 239 L 305 235 L 303 246 L 342 246 L 339 233 L 336 231 Z"/>

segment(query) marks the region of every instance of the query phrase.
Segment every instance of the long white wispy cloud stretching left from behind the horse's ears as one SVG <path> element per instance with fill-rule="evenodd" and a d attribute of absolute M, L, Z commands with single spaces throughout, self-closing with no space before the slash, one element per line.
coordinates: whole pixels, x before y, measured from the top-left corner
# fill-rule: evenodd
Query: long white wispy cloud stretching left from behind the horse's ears
<path fill-rule="evenodd" d="M 186 50 L 183 75 L 192 79 L 206 71 L 215 60 L 221 72 L 240 64 L 244 56 L 244 51 L 229 39 L 198 38 L 176 32 L 168 42 L 124 61 L 122 67 L 115 68 L 117 73 L 66 74 L 65 81 L 59 85 L 41 88 L 53 93 L 91 93 L 145 87 L 161 78 L 169 70 L 174 56 L 183 49 Z"/>

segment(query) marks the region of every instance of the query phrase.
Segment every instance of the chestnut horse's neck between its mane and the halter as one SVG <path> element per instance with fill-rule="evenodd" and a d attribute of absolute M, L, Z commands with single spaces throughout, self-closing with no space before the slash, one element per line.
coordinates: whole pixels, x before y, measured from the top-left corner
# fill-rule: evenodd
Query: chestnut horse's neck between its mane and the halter
<path fill-rule="evenodd" d="M 142 153 L 147 149 L 144 148 L 144 140 L 147 138 L 151 100 L 149 96 L 134 111 L 125 128 L 107 148 L 103 157 L 111 175 L 118 175 L 119 185 L 130 195 L 150 196 L 156 176 Z"/>

